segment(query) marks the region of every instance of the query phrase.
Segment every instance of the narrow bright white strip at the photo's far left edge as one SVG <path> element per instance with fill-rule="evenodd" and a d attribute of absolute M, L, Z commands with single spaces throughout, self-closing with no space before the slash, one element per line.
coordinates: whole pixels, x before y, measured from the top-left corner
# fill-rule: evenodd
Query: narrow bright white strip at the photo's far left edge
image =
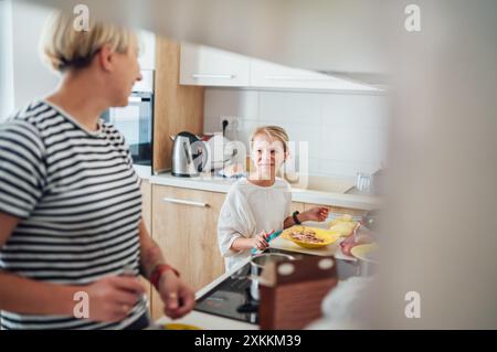
<path fill-rule="evenodd" d="M 12 7 L 10 0 L 0 0 L 0 121 L 14 106 L 12 74 Z"/>

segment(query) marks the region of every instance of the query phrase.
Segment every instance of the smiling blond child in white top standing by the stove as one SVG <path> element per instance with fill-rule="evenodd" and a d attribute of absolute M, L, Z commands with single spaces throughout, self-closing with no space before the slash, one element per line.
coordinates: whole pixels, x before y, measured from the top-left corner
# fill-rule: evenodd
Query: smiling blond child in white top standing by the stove
<path fill-rule="evenodd" d="M 277 126 L 260 127 L 252 134 L 251 158 L 255 171 L 232 185 L 218 222 L 219 246 L 226 270 L 250 257 L 252 248 L 266 249 L 272 232 L 295 225 L 295 220 L 322 222 L 328 216 L 326 207 L 313 207 L 294 216 L 290 213 L 290 186 L 276 178 L 288 158 L 287 143 L 287 134 Z"/>

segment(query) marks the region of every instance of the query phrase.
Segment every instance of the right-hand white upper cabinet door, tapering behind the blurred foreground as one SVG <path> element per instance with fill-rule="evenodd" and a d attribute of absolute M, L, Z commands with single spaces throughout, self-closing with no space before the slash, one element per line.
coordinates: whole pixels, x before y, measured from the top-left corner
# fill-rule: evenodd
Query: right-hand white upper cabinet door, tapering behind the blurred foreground
<path fill-rule="evenodd" d="M 331 75 L 251 60 L 251 87 L 374 92 L 378 88 Z"/>

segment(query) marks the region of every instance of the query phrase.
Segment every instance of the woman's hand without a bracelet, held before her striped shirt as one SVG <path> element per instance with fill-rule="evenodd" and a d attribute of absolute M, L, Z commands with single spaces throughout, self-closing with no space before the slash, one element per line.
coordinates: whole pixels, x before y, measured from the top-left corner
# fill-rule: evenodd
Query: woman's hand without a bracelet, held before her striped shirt
<path fill-rule="evenodd" d="M 136 277 L 113 276 L 99 279 L 82 291 L 89 297 L 88 318 L 113 322 L 128 316 L 145 289 Z"/>

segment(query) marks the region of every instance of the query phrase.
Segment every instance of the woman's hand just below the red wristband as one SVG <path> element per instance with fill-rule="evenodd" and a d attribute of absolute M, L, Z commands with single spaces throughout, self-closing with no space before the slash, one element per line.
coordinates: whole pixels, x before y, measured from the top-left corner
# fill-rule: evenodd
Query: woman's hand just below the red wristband
<path fill-rule="evenodd" d="M 186 316 L 195 303 L 193 291 L 171 270 L 160 277 L 159 294 L 165 305 L 163 312 L 171 319 Z"/>

